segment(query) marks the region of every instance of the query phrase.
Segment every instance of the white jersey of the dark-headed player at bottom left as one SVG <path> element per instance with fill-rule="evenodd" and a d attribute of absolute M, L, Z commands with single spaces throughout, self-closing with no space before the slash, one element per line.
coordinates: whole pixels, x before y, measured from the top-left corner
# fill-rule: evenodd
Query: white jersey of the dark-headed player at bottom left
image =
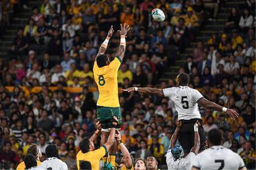
<path fill-rule="evenodd" d="M 54 157 L 44 160 L 39 167 L 48 170 L 68 170 L 65 162 Z"/>

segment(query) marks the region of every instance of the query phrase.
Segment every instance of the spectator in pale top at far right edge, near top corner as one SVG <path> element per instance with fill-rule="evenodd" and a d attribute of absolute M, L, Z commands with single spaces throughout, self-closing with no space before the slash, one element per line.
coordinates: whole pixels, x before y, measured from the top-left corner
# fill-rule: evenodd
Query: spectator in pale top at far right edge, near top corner
<path fill-rule="evenodd" d="M 254 17 L 251 15 L 248 9 L 244 9 L 244 13 L 240 18 L 239 26 L 243 30 L 243 32 L 247 32 L 247 30 L 252 27 L 254 22 Z"/>

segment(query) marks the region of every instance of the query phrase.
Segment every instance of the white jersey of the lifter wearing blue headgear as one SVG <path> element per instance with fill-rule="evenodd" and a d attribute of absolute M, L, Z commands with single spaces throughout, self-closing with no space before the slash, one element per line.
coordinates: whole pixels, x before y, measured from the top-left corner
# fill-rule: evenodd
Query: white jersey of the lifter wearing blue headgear
<path fill-rule="evenodd" d="M 195 157 L 196 157 L 196 154 L 194 154 L 194 152 L 190 152 L 185 158 L 179 158 L 178 160 L 174 161 L 174 158 L 171 153 L 171 149 L 169 149 L 166 154 L 166 164 L 167 164 L 168 170 L 174 170 L 174 169 L 190 170 L 192 168 L 192 163 Z"/>

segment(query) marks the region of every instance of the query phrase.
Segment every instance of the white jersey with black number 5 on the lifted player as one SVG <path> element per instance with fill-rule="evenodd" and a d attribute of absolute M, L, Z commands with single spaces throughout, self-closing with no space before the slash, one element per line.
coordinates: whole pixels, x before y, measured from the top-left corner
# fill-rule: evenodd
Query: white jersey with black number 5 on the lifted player
<path fill-rule="evenodd" d="M 198 90 L 191 89 L 188 86 L 171 87 L 163 89 L 163 95 L 174 102 L 178 112 L 178 120 L 201 118 L 196 102 L 203 96 Z"/>

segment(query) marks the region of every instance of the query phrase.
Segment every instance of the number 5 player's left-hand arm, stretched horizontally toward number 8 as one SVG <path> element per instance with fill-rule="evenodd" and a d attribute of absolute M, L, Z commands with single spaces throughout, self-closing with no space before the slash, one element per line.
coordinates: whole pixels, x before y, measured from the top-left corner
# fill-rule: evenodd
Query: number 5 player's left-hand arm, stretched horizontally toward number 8
<path fill-rule="evenodd" d="M 140 92 L 142 94 L 152 94 L 158 95 L 160 97 L 165 97 L 163 95 L 163 89 L 154 89 L 151 87 L 129 87 L 128 89 L 123 89 L 124 92 Z"/>

